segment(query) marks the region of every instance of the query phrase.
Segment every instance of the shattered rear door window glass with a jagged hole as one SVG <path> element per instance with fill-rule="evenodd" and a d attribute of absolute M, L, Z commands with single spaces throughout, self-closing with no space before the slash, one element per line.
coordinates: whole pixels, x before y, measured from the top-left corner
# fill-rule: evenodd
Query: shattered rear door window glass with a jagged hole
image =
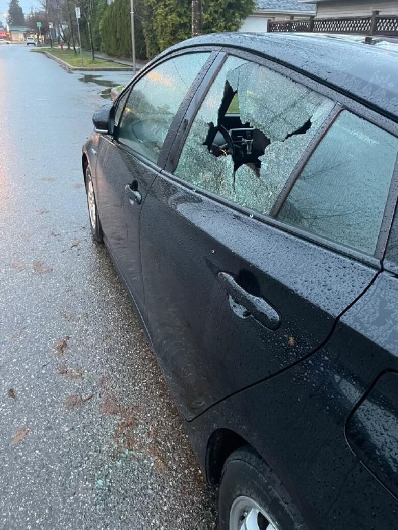
<path fill-rule="evenodd" d="M 175 174 L 269 215 L 334 102 L 230 56 L 189 131 Z"/>

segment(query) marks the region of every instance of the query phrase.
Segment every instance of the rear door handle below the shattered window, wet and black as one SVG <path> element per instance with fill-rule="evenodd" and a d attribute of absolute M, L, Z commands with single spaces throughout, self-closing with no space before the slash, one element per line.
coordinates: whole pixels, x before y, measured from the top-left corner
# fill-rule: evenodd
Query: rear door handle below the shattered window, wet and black
<path fill-rule="evenodd" d="M 281 322 L 280 316 L 264 298 L 248 293 L 228 272 L 219 272 L 217 278 L 227 293 L 243 305 L 254 319 L 271 330 L 278 328 Z"/>

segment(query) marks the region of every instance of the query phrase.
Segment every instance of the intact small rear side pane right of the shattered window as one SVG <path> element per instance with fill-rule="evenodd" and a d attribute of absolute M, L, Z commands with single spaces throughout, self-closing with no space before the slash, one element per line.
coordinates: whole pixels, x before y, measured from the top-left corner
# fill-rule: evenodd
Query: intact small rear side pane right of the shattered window
<path fill-rule="evenodd" d="M 278 219 L 374 254 L 398 138 L 348 110 L 327 131 Z"/>

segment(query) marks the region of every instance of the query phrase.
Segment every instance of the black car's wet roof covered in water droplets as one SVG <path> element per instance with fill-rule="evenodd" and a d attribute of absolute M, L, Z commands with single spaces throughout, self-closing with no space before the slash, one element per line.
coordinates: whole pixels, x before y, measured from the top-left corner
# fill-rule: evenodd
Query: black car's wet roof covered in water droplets
<path fill-rule="evenodd" d="M 228 46 L 287 65 L 348 94 L 390 118 L 398 118 L 398 43 L 364 43 L 365 36 L 308 33 L 210 33 L 161 54 L 193 46 Z"/>

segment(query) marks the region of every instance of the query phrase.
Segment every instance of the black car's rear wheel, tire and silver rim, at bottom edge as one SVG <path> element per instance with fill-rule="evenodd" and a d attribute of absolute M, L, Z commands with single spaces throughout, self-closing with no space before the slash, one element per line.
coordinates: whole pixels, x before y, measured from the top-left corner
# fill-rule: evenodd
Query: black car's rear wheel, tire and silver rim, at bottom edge
<path fill-rule="evenodd" d="M 233 452 L 223 466 L 219 525 L 220 530 L 307 528 L 280 481 L 249 446 Z"/>

